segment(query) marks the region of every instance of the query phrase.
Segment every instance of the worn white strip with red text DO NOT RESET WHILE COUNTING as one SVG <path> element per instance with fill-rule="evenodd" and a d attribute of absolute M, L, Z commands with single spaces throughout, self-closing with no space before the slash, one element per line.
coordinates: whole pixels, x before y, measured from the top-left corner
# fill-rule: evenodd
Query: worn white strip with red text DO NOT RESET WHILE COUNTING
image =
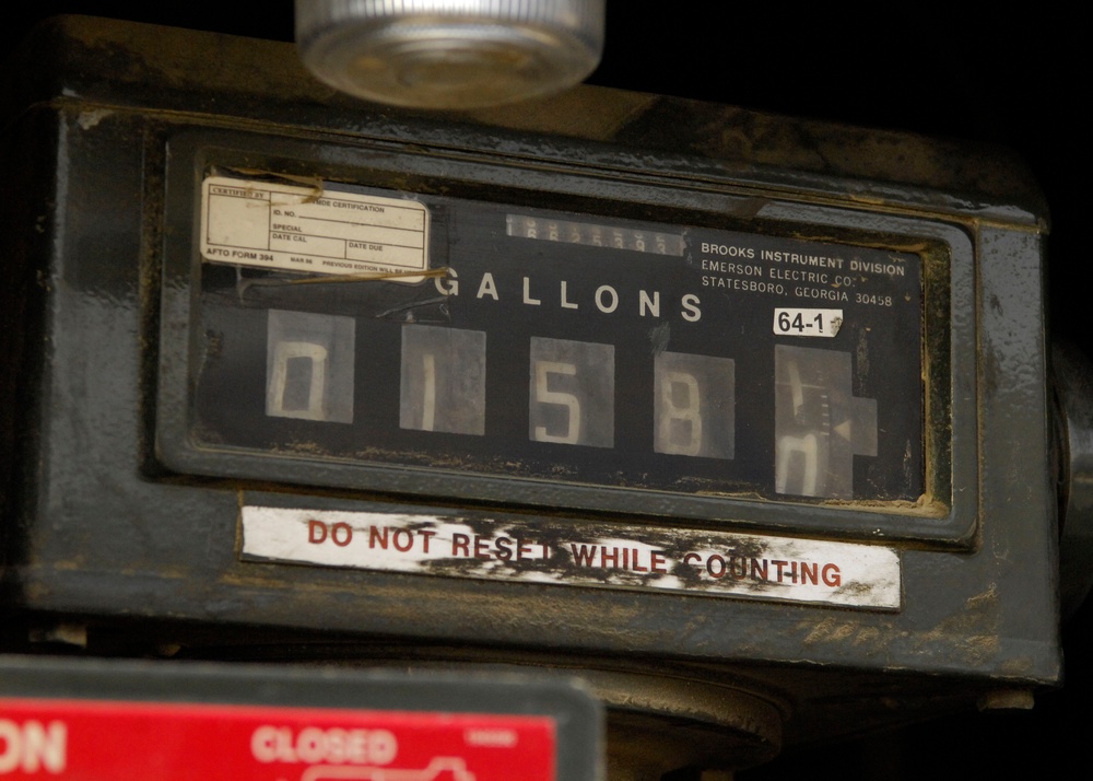
<path fill-rule="evenodd" d="M 873 545 L 549 518 L 244 506 L 242 557 L 455 578 L 898 609 L 900 558 Z"/>

